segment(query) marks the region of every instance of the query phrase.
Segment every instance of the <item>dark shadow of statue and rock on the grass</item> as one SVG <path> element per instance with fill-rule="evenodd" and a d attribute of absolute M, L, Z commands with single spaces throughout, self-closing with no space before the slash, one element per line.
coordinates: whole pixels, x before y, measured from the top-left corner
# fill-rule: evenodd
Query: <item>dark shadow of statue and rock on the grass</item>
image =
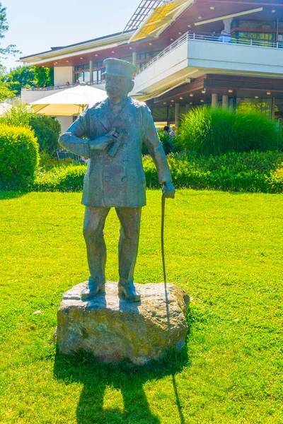
<path fill-rule="evenodd" d="M 180 353 L 172 352 L 163 360 L 140 367 L 126 362 L 119 365 L 101 364 L 88 353 L 67 356 L 57 349 L 54 377 L 65 384 L 83 384 L 76 409 L 78 424 L 158 424 L 161 421 L 151 413 L 143 385 L 171 375 L 179 414 L 179 417 L 175 417 L 175 423 L 185 424 L 175 375 L 187 366 L 190 366 L 190 360 L 185 348 Z M 124 401 L 123 412 L 118 408 L 103 408 L 107 387 L 120 390 Z"/>

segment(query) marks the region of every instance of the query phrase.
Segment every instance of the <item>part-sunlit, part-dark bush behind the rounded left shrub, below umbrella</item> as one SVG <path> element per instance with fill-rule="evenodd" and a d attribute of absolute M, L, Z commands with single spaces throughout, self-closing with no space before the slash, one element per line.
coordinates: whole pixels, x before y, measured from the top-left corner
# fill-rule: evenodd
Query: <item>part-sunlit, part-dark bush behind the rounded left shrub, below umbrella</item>
<path fill-rule="evenodd" d="M 40 151 L 45 150 L 47 153 L 54 153 L 58 146 L 61 126 L 57 119 L 35 114 L 32 107 L 27 103 L 11 107 L 1 119 L 1 122 L 7 125 L 25 126 L 33 129 Z"/>

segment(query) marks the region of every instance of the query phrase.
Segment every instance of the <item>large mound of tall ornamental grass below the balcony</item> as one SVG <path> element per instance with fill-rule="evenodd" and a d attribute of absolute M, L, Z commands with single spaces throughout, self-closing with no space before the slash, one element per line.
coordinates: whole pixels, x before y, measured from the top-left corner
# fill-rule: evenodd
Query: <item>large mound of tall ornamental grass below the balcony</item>
<path fill-rule="evenodd" d="M 201 155 L 269 151 L 283 146 L 277 124 L 269 117 L 212 107 L 196 107 L 183 115 L 177 139 L 188 151 Z"/>

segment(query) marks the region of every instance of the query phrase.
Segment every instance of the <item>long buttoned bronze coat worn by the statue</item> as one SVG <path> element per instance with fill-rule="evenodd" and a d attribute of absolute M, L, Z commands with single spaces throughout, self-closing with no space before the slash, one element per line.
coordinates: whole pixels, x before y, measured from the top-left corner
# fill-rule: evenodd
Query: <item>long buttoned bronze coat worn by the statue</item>
<path fill-rule="evenodd" d="M 90 141 L 108 134 L 113 127 L 123 134 L 115 156 L 108 155 L 107 148 L 91 150 Z M 128 98 L 115 119 L 108 99 L 89 107 L 62 134 L 59 143 L 77 155 L 90 158 L 83 182 L 83 205 L 137 208 L 146 204 L 142 143 L 146 144 L 154 159 L 159 182 L 171 182 L 166 155 L 151 112 L 144 103 L 132 98 Z"/>

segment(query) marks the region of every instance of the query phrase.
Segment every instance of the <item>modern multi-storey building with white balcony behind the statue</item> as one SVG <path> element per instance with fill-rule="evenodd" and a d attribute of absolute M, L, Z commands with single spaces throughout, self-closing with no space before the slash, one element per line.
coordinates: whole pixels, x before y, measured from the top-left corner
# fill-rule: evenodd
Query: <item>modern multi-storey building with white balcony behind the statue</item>
<path fill-rule="evenodd" d="M 54 68 L 54 87 L 23 90 L 32 102 L 85 81 L 103 88 L 103 60 L 137 66 L 131 95 L 156 125 L 178 124 L 196 105 L 254 107 L 283 117 L 282 0 L 142 0 L 121 33 L 22 57 Z M 73 117 L 61 117 L 62 129 Z"/>

